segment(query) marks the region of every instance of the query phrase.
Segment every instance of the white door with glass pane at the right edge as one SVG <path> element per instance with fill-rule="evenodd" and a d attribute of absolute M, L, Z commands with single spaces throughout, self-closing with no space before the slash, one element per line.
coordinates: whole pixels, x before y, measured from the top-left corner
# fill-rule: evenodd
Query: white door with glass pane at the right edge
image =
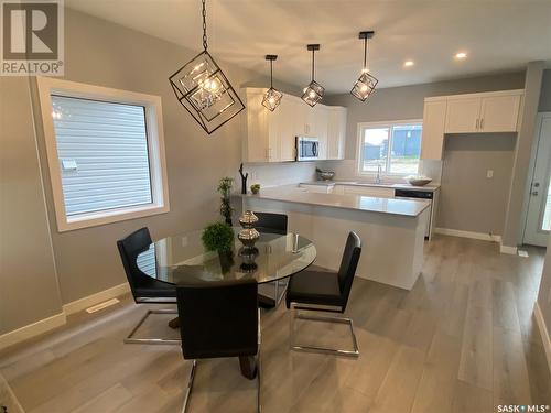
<path fill-rule="evenodd" d="M 523 243 L 547 247 L 551 230 L 551 112 L 538 113 Z"/>

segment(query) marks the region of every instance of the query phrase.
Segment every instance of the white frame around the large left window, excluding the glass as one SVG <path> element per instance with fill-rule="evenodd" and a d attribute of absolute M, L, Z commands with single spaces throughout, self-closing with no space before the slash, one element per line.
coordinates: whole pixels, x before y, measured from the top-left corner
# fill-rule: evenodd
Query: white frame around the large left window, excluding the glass
<path fill-rule="evenodd" d="M 60 232 L 96 227 L 106 224 L 141 218 L 170 211 L 166 159 L 162 121 L 161 97 L 129 90 L 87 85 L 51 77 L 36 78 L 46 157 L 52 184 L 57 230 Z M 104 209 L 67 217 L 63 195 L 57 141 L 52 119 L 52 95 L 71 98 L 100 100 L 112 104 L 142 106 L 145 115 L 145 135 L 148 140 L 149 173 L 152 203 Z"/>

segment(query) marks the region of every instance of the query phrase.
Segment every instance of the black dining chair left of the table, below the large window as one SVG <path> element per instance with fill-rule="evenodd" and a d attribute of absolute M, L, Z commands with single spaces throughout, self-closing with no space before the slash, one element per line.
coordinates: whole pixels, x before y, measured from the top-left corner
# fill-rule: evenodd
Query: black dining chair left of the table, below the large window
<path fill-rule="evenodd" d="M 138 267 L 138 256 L 145 251 L 151 251 L 154 262 L 154 250 L 150 250 L 151 236 L 148 228 L 140 228 L 130 233 L 126 238 L 117 241 L 120 259 L 125 267 L 130 291 L 137 304 L 176 304 L 176 290 L 173 285 L 156 281 L 144 274 Z M 151 314 L 177 314 L 176 309 L 155 308 L 148 309 L 138 325 L 132 328 L 130 334 L 125 338 L 127 344 L 180 344 L 179 339 L 170 338 L 137 338 L 134 337 L 138 329 L 142 326 L 145 319 Z"/>

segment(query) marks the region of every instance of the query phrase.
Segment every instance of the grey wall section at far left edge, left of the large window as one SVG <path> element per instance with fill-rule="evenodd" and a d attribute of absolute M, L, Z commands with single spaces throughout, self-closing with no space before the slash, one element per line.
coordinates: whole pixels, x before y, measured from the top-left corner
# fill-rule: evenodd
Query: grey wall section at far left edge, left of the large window
<path fill-rule="evenodd" d="M 0 335 L 62 311 L 29 102 L 0 77 Z"/>

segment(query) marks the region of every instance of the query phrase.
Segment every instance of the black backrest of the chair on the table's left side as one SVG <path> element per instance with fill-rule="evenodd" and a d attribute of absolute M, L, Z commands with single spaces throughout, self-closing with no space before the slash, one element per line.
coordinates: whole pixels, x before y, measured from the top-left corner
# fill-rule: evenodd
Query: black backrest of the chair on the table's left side
<path fill-rule="evenodd" d="M 136 289 L 148 280 L 148 275 L 138 268 L 136 259 L 138 254 L 145 251 L 150 244 L 151 236 L 148 228 L 140 228 L 126 238 L 117 241 L 120 259 L 122 260 L 122 265 L 125 267 L 128 283 L 130 284 L 130 290 L 132 291 L 134 300 L 137 298 Z"/>

